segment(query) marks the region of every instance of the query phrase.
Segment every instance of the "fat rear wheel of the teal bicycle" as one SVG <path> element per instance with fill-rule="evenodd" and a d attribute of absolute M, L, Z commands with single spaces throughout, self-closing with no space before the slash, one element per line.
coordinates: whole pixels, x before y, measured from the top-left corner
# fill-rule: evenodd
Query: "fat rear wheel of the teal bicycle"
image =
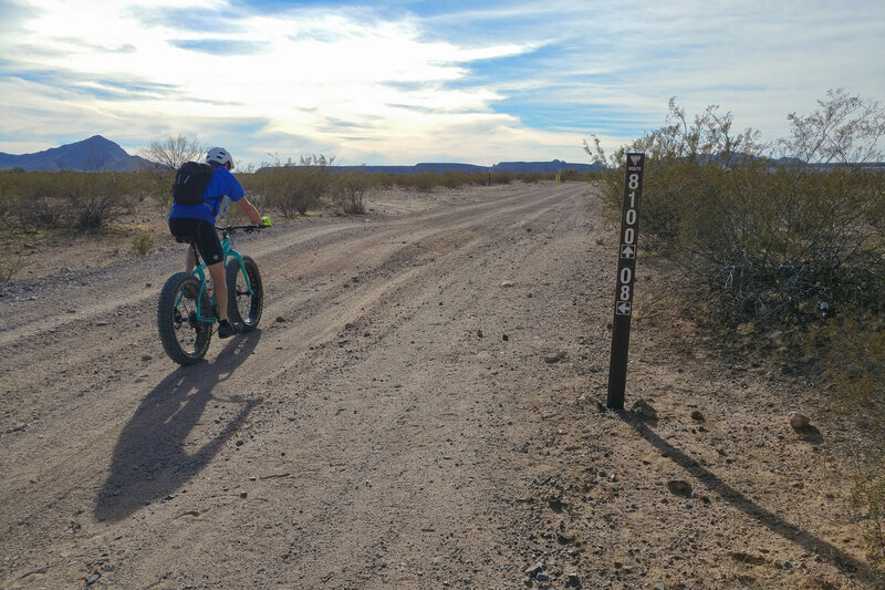
<path fill-rule="evenodd" d="M 180 365 L 200 362 L 209 350 L 212 324 L 197 319 L 197 297 L 200 281 L 188 272 L 169 277 L 157 302 L 157 328 L 163 350 Z M 204 291 L 200 314 L 211 313 L 209 297 Z"/>

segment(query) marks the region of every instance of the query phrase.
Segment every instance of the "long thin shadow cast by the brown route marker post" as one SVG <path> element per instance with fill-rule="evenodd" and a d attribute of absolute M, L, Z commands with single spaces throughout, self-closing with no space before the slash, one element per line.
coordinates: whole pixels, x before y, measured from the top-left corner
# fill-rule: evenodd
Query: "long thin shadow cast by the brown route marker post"
<path fill-rule="evenodd" d="M 811 535 L 806 530 L 803 530 L 795 525 L 791 525 L 778 515 L 770 513 L 761 506 L 754 504 L 750 498 L 722 482 L 719 476 L 658 436 L 642 417 L 637 417 L 629 412 L 620 412 L 618 414 L 621 420 L 633 426 L 639 436 L 645 438 L 647 443 L 658 449 L 663 456 L 668 457 L 676 465 L 688 472 L 688 474 L 700 482 L 705 487 L 707 487 L 707 489 L 717 494 L 729 505 L 741 510 L 743 514 L 763 527 L 780 535 L 784 539 L 801 546 L 806 551 L 820 556 L 821 559 L 831 562 L 846 576 L 870 576 L 870 568 L 866 566 L 866 563 L 858 561 L 856 558 L 839 549 L 837 547 L 834 547 L 825 540 Z"/>

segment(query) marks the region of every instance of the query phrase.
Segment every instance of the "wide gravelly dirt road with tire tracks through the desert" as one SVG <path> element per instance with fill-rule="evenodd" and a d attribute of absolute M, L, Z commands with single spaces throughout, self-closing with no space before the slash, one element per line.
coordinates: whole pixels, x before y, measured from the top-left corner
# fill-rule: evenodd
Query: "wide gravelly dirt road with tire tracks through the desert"
<path fill-rule="evenodd" d="M 240 239 L 260 329 L 194 368 L 156 335 L 179 251 L 4 288 L 0 587 L 866 583 L 785 424 L 804 384 L 639 301 L 627 405 L 655 414 L 598 412 L 617 236 L 587 185 L 369 206 Z"/>

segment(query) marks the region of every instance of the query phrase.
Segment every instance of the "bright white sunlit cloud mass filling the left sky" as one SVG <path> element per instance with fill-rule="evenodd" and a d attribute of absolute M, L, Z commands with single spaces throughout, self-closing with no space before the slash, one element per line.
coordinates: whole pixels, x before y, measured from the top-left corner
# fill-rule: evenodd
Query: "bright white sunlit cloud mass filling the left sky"
<path fill-rule="evenodd" d="M 61 113 L 87 125 L 102 122 L 111 127 L 150 121 L 145 131 L 156 131 L 144 143 L 166 132 L 198 133 L 211 120 L 217 124 L 259 118 L 266 124 L 257 132 L 310 138 L 334 148 L 335 137 L 320 130 L 330 121 L 347 121 L 374 130 L 376 142 L 387 142 L 388 157 L 403 158 L 414 152 L 399 151 L 396 139 L 414 135 L 415 130 L 445 133 L 447 126 L 460 124 L 464 113 L 494 121 L 489 108 L 498 99 L 494 92 L 446 84 L 462 77 L 471 61 L 523 51 L 513 43 L 429 42 L 408 18 L 364 24 L 345 14 L 315 11 L 284 18 L 237 18 L 226 11 L 225 33 L 200 33 L 170 28 L 168 20 L 136 19 L 136 7 L 125 1 L 35 7 L 35 17 L 23 23 L 17 43 L 42 51 L 13 65 L 33 81 L 17 80 L 17 72 L 7 69 L 3 83 L 17 85 L 19 92 L 4 93 L 4 106 L 23 112 L 30 104 L 33 115 L 23 123 L 38 134 L 58 128 L 52 120 Z M 162 17 L 153 8 L 150 14 Z M 257 43 L 257 51 L 228 52 L 242 43 Z M 55 80 L 41 83 L 43 72 L 66 79 L 70 92 L 58 95 Z M 154 90 L 127 93 L 121 84 Z M 39 97 L 38 108 L 33 96 Z M 7 135 L 23 131 L 6 127 Z M 258 142 L 260 137 L 252 141 Z"/>

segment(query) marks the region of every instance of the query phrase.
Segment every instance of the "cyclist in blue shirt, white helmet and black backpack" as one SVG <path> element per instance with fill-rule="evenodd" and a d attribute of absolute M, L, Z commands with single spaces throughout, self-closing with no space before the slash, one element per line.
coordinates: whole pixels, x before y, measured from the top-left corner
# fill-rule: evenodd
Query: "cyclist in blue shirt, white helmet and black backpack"
<path fill-rule="evenodd" d="M 218 337 L 229 338 L 242 332 L 242 324 L 228 321 L 225 259 L 221 252 L 221 240 L 218 239 L 215 229 L 215 218 L 227 196 L 240 206 L 242 213 L 252 222 L 263 226 L 264 221 L 258 209 L 246 198 L 239 180 L 230 173 L 230 169 L 233 168 L 233 158 L 230 157 L 230 152 L 223 147 L 212 147 L 206 155 L 206 162 L 215 170 L 202 194 L 204 203 L 194 206 L 174 204 L 173 210 L 169 213 L 169 231 L 177 238 L 186 238 L 190 240 L 191 245 L 197 245 L 200 256 L 209 268 L 209 276 L 215 286 L 215 301 L 219 320 Z M 192 246 L 188 246 L 185 265 L 188 272 L 191 272 L 197 266 Z"/>

